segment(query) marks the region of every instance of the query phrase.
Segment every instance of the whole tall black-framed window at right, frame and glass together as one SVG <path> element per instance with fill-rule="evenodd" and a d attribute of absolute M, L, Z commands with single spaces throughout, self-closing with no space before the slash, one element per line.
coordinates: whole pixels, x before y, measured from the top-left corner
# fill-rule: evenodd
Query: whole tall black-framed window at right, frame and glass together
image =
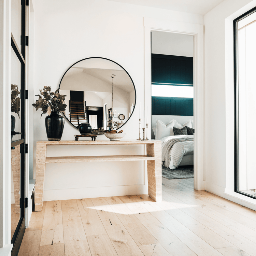
<path fill-rule="evenodd" d="M 235 192 L 256 199 L 256 7 L 233 20 Z"/>

